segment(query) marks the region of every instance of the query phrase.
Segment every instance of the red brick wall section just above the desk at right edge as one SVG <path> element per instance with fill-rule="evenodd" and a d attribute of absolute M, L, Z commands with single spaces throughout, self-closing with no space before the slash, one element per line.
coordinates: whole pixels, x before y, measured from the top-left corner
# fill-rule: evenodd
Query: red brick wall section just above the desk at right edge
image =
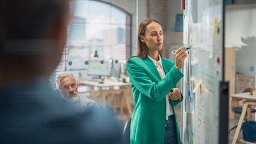
<path fill-rule="evenodd" d="M 246 88 L 255 88 L 255 76 L 236 74 L 236 94 Z"/>

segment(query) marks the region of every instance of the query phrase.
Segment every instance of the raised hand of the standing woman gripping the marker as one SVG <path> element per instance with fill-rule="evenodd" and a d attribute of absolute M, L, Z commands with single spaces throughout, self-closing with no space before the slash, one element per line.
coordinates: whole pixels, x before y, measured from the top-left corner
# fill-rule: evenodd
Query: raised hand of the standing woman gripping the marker
<path fill-rule="evenodd" d="M 185 49 L 185 47 L 180 47 L 174 53 L 174 57 L 175 57 L 175 65 L 174 65 L 174 67 L 176 67 L 178 70 L 181 70 L 181 68 L 183 68 L 184 59 L 187 58 L 187 53 L 183 49 Z"/>

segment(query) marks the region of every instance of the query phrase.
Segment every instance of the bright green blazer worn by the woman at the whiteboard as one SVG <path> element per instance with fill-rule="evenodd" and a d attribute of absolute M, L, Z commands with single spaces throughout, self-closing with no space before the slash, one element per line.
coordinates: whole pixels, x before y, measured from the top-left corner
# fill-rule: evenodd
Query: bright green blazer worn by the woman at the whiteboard
<path fill-rule="evenodd" d="M 163 69 L 166 77 L 161 79 L 156 66 L 150 58 L 129 59 L 126 70 L 130 78 L 130 85 L 134 97 L 132 122 L 130 125 L 131 144 L 163 144 L 165 139 L 166 99 L 165 96 L 176 88 L 183 74 L 174 67 L 174 62 L 162 58 Z M 183 99 L 183 96 L 181 95 Z M 181 99 L 181 100 L 182 100 Z M 180 101 L 172 101 L 171 105 L 177 106 Z M 180 141 L 177 116 L 174 110 L 175 129 L 177 141 Z"/>

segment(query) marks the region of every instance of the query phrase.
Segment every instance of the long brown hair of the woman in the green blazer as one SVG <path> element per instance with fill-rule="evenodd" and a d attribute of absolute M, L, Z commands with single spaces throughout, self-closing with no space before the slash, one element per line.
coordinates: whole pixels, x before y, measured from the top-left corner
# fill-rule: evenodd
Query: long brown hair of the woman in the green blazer
<path fill-rule="evenodd" d="M 145 35 L 145 31 L 147 29 L 147 26 L 151 23 L 151 22 L 157 22 L 159 23 L 160 25 L 160 22 L 158 20 L 155 20 L 155 19 L 145 19 L 141 22 L 141 24 L 139 24 L 139 29 L 138 29 L 138 48 L 137 48 L 137 53 L 136 53 L 136 56 L 131 56 L 130 58 L 133 58 L 133 57 L 139 57 L 139 58 L 146 58 L 148 56 L 148 47 L 145 43 L 143 43 L 141 41 L 141 38 L 140 38 L 140 35 Z M 163 50 L 158 50 L 159 52 L 159 55 L 162 57 L 163 55 Z M 129 59 L 127 59 L 126 62 L 128 62 Z"/>

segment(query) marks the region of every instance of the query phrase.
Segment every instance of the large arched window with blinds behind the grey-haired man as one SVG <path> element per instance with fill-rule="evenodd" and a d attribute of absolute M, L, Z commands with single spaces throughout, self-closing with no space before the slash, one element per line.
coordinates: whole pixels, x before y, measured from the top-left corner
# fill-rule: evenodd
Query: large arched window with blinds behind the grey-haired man
<path fill-rule="evenodd" d="M 97 51 L 103 61 L 122 61 L 130 56 L 131 16 L 102 1 L 77 0 L 70 3 L 73 19 L 68 26 L 67 44 L 53 73 L 79 71 L 87 77 L 87 62 Z"/>

